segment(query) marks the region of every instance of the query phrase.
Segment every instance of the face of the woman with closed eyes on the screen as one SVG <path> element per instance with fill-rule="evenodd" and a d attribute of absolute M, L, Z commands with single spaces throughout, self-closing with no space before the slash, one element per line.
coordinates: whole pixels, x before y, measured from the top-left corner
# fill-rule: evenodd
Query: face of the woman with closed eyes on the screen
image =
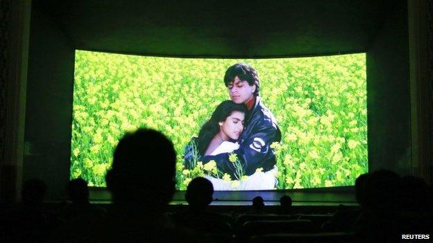
<path fill-rule="evenodd" d="M 224 141 L 237 140 L 244 129 L 244 112 L 233 111 L 226 120 L 219 122 L 219 133 Z"/>

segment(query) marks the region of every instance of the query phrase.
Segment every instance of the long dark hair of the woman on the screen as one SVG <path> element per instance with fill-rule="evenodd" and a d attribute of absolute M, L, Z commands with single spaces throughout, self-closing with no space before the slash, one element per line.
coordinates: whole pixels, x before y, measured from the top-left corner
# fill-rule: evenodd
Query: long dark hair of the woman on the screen
<path fill-rule="evenodd" d="M 212 138 L 219 133 L 218 123 L 225 121 L 233 111 L 239 111 L 246 114 L 246 105 L 236 104 L 235 102 L 232 102 L 232 100 L 225 100 L 217 106 L 214 113 L 212 113 L 210 120 L 203 124 L 203 126 L 201 126 L 200 132 L 198 132 L 198 154 L 202 156 L 205 154 L 207 147 L 209 147 L 210 141 L 212 141 Z"/>

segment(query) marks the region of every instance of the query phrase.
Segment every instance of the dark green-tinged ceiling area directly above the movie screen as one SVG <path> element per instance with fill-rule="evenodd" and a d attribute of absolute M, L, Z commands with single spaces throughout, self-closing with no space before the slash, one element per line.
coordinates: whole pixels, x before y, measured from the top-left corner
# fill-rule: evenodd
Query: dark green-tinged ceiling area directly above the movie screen
<path fill-rule="evenodd" d="M 368 50 L 383 0 L 34 0 L 77 49 L 183 57 L 284 57 Z"/>

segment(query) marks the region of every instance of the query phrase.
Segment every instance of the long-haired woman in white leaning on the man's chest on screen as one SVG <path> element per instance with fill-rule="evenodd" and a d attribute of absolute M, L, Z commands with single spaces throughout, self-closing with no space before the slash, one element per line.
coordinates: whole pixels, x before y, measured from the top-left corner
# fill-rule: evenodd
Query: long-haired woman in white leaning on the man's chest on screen
<path fill-rule="evenodd" d="M 238 139 L 244 129 L 246 105 L 236 104 L 232 100 L 221 102 L 200 129 L 198 137 L 192 138 L 185 148 L 185 167 L 193 169 L 200 163 L 202 156 L 231 153 L 239 149 Z M 232 177 L 217 170 L 214 161 L 203 166 L 205 178 L 212 181 L 214 190 L 257 190 L 273 189 L 275 174 L 256 172 L 250 177 L 243 176 L 242 166 L 233 153 Z M 200 166 L 200 165 L 199 165 Z M 267 183 L 269 182 L 269 183 Z"/>

